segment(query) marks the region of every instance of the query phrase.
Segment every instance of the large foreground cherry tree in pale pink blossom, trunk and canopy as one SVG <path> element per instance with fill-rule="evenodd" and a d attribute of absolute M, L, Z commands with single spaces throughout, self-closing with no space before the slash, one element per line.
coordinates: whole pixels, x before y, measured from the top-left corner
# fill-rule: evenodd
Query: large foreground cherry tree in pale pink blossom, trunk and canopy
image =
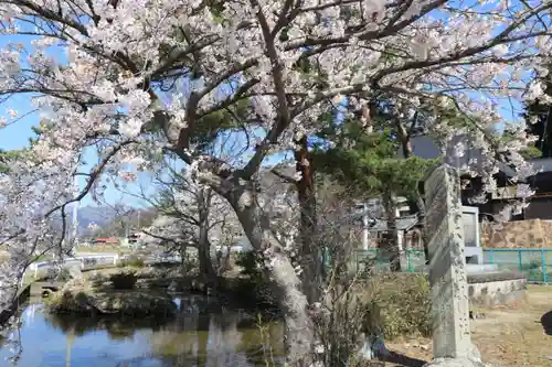
<path fill-rule="evenodd" d="M 305 148 L 336 104 L 367 110 L 384 96 L 405 114 L 423 100 L 465 116 L 469 123 L 458 127 L 435 112 L 427 130 L 473 137 L 482 156 L 465 169 L 486 190 L 498 161 L 516 166 L 519 179 L 531 174 L 518 153 L 530 137 L 518 129 L 500 145 L 491 130 L 511 100 L 550 101 L 538 78 L 526 82 L 548 71 L 551 8 L 550 0 L 3 1 L 0 94 L 7 108 L 12 96 L 30 95 L 43 126 L 22 158 L 2 162 L 0 237 L 10 260 L 1 266 L 0 299 L 10 300 L 34 244 L 71 246 L 66 226 L 52 226 L 54 213 L 65 218 L 67 205 L 102 195 L 106 175 L 132 180 L 129 166 L 156 170 L 159 155 L 176 154 L 230 203 L 267 259 L 288 361 L 299 364 L 312 345 L 309 282 L 256 205 L 267 154 Z M 189 96 L 171 93 L 179 79 L 191 80 Z M 255 150 L 242 164 L 199 149 L 198 133 L 220 111 L 244 131 L 265 132 L 252 138 Z M 17 116 L 8 114 L 3 125 Z M 83 171 L 92 148 L 98 162 Z M 74 175 L 86 177 L 77 195 Z"/>

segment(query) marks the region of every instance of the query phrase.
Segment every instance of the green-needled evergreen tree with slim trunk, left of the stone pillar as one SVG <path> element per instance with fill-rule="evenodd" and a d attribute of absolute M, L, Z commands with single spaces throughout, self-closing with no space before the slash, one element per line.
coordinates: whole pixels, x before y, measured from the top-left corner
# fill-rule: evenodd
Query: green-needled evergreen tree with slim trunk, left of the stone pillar
<path fill-rule="evenodd" d="M 397 156 L 404 150 L 404 141 L 397 137 L 399 123 L 389 123 L 385 115 L 374 116 L 375 132 L 369 132 L 358 120 L 346 119 L 342 123 L 329 123 L 321 134 L 322 142 L 312 152 L 316 170 L 331 175 L 347 185 L 359 199 L 381 197 L 388 222 L 385 250 L 391 255 L 391 270 L 400 271 L 395 196 L 417 199 L 417 183 L 436 164 L 414 155 Z M 378 121 L 384 122 L 379 125 Z M 402 126 L 402 125 L 401 125 Z M 399 132 L 400 133 L 400 132 Z M 333 142 L 332 148 L 326 141 Z"/>

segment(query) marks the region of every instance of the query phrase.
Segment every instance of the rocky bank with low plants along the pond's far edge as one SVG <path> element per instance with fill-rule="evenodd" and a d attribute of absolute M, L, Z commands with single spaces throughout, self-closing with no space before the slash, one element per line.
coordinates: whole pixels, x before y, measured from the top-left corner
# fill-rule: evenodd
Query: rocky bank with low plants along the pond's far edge
<path fill-rule="evenodd" d="M 94 271 L 52 292 L 46 307 L 54 313 L 150 315 L 173 313 L 169 294 L 205 295 L 205 283 L 182 276 L 178 268 L 119 268 Z M 273 302 L 258 292 L 258 284 L 243 278 L 220 279 L 210 293 L 219 307 L 278 313 Z"/>

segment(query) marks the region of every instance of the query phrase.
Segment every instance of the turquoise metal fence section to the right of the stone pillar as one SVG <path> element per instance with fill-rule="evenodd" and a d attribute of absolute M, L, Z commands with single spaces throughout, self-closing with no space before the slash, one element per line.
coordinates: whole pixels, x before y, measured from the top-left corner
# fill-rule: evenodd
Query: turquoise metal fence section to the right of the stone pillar
<path fill-rule="evenodd" d="M 526 274 L 530 282 L 552 282 L 552 249 L 484 249 L 484 262 Z"/>

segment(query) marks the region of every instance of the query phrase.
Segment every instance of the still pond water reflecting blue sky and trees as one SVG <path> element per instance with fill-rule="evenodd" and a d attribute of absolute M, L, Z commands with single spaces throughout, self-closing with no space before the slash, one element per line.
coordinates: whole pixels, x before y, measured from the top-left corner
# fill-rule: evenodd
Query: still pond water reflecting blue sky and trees
<path fill-rule="evenodd" d="M 278 365 L 284 327 L 182 296 L 172 320 L 52 315 L 40 300 L 21 314 L 19 367 L 256 367 Z M 0 349 L 0 366 L 13 352 Z M 268 364 L 267 364 L 268 363 Z"/>

